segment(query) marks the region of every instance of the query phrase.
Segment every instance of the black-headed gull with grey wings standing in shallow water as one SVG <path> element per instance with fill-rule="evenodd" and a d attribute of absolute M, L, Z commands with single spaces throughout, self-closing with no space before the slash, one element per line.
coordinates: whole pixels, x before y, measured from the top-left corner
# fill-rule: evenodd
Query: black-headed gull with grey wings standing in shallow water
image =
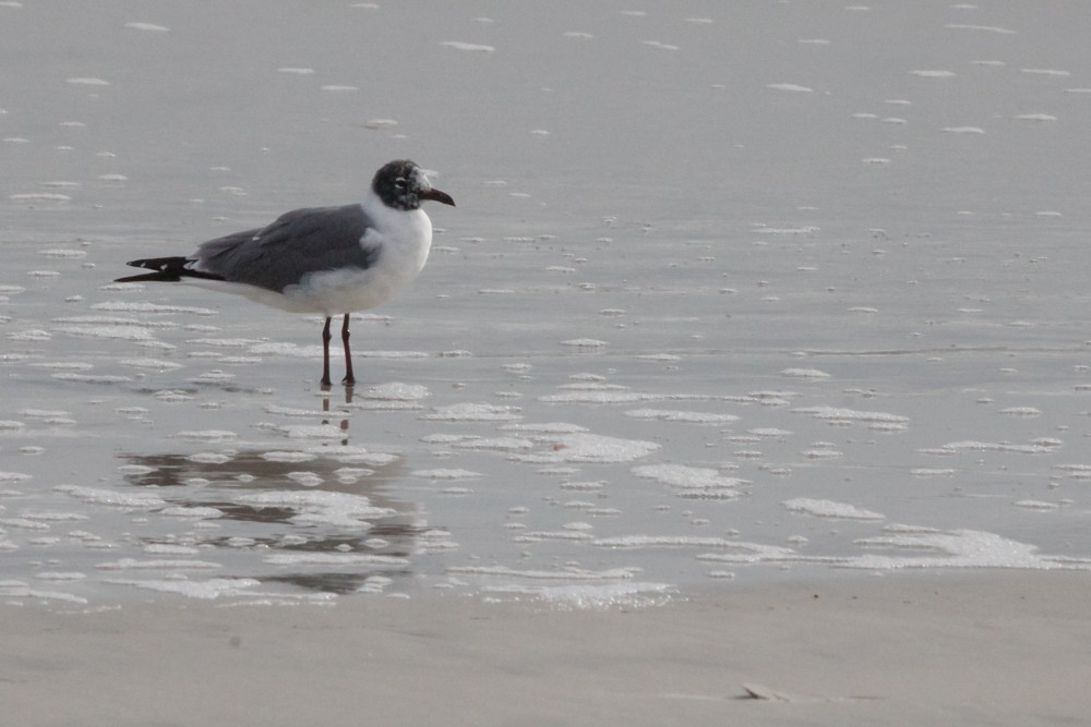
<path fill-rule="evenodd" d="M 379 305 L 412 282 L 432 245 L 424 199 L 455 201 L 432 186 L 409 160 L 375 172 L 363 202 L 296 209 L 267 227 L 209 240 L 187 257 L 132 260 L 154 272 L 116 282 L 177 282 L 238 293 L 293 313 L 322 313 L 322 384 L 329 386 L 329 322 L 344 314 L 346 386 L 356 384 L 348 346 L 348 316 Z"/>

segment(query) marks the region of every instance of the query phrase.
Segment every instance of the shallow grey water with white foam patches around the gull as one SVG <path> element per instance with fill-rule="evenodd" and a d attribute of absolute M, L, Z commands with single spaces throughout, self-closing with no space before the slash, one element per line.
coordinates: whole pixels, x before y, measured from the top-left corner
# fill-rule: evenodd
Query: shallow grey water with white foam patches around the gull
<path fill-rule="evenodd" d="M 1091 568 L 1081 3 L 281 4 L 0 7 L 5 601 Z M 110 282 L 395 157 L 350 397 Z"/>

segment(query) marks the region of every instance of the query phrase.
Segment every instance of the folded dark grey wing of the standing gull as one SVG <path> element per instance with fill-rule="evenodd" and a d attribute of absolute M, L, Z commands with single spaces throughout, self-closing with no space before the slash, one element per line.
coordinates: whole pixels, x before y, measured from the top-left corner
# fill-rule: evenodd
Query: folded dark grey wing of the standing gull
<path fill-rule="evenodd" d="M 309 272 L 374 265 L 379 246 L 361 244 L 370 227 L 360 205 L 295 209 L 267 227 L 209 240 L 193 258 L 201 271 L 280 292 Z"/>

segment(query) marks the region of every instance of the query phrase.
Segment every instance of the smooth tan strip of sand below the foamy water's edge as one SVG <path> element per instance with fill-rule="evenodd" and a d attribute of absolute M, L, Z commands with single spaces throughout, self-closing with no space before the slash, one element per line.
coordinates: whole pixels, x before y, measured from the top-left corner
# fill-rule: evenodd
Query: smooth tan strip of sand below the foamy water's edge
<path fill-rule="evenodd" d="M 729 586 L 630 610 L 10 607 L 0 706 L 27 726 L 1086 724 L 1089 578 Z"/>

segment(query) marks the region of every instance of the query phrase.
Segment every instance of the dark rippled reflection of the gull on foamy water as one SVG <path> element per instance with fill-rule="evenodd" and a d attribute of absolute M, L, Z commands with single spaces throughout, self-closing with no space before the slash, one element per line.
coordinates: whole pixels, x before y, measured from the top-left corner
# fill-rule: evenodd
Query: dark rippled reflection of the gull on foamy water
<path fill-rule="evenodd" d="M 351 389 L 346 390 L 346 403 L 351 403 Z M 323 400 L 323 415 L 328 416 L 323 424 L 336 420 L 328 398 Z M 239 575 L 332 593 L 357 591 L 373 575 L 410 577 L 412 559 L 421 550 L 419 536 L 428 526 L 413 504 L 389 495 L 389 485 L 403 477 L 406 464 L 399 456 L 349 447 L 347 412 L 338 426 L 345 432 L 340 446 L 120 457 L 139 465 L 124 470 L 130 484 L 157 488 L 156 494 L 171 506 L 215 509 L 217 517 L 204 522 L 219 526 L 194 528 L 197 545 L 232 553 L 261 549 L 265 556 L 382 556 L 345 566 L 304 558 L 300 564 L 271 567 L 259 560 L 253 568 L 262 572 Z M 349 504 L 347 513 L 337 509 L 343 501 Z M 145 542 L 169 540 L 148 537 Z"/>

